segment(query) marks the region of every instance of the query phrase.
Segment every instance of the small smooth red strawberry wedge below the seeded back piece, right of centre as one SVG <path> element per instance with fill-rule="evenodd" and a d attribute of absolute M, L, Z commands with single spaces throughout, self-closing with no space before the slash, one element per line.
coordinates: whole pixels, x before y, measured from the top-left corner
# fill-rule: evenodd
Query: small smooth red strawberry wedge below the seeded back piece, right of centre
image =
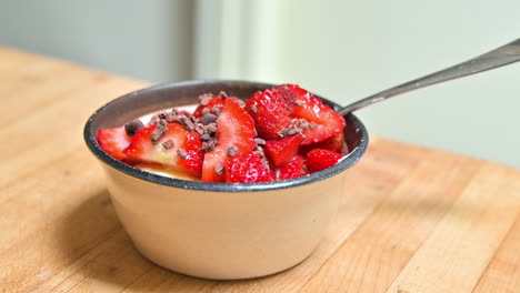
<path fill-rule="evenodd" d="M 303 140 L 301 134 L 288 137 L 281 140 L 266 142 L 266 151 L 277 166 L 287 165 L 298 154 L 298 148 Z"/>

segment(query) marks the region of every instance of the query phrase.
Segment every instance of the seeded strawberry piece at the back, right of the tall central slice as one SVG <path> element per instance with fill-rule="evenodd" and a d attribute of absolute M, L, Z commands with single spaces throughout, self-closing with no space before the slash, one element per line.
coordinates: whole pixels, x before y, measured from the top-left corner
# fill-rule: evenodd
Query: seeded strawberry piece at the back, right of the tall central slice
<path fill-rule="evenodd" d="M 246 102 L 246 110 L 254 119 L 258 134 L 264 140 L 280 139 L 280 132 L 291 123 L 294 94 L 280 85 L 259 91 Z"/>

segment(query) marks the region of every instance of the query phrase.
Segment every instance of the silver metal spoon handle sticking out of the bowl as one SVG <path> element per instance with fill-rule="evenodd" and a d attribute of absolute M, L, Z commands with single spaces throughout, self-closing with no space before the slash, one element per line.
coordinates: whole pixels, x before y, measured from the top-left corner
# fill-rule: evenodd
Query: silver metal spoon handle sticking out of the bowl
<path fill-rule="evenodd" d="M 494 49 L 486 54 L 479 55 L 460 64 L 437 71 L 429 75 L 409 81 L 394 88 L 376 93 L 357 102 L 353 102 L 338 112 L 346 115 L 350 112 L 359 110 L 363 107 L 380 102 L 384 99 L 424 88 L 439 82 L 479 73 L 493 68 L 503 67 L 513 62 L 520 61 L 520 39 L 510 42 L 506 46 Z"/>

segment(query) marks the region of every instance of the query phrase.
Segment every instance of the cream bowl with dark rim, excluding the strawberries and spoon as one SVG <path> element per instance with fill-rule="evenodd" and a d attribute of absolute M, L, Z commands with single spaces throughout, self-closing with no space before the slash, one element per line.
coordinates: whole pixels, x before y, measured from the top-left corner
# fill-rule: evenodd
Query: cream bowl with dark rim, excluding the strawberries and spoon
<path fill-rule="evenodd" d="M 160 84 L 116 99 L 89 119 L 87 145 L 106 170 L 121 223 L 146 257 L 183 274 L 230 280 L 283 271 L 316 249 L 344 192 L 344 171 L 368 145 L 367 130 L 354 115 L 346 117 L 351 152 L 338 164 L 298 179 L 257 184 L 160 176 L 113 159 L 96 141 L 100 128 L 197 103 L 202 93 L 223 90 L 248 99 L 271 87 L 243 81 Z"/>

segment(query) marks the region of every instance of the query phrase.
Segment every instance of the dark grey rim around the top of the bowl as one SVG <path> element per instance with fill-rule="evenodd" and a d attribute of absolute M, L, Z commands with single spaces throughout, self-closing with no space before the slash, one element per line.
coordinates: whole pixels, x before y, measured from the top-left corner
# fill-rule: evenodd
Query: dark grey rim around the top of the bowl
<path fill-rule="evenodd" d="M 126 164 L 114 159 L 110 154 L 108 154 L 103 149 L 101 149 L 101 146 L 98 144 L 96 137 L 93 135 L 92 124 L 96 121 L 96 118 L 99 115 L 99 113 L 108 109 L 110 105 L 112 105 L 117 101 L 121 101 L 123 99 L 127 99 L 128 97 L 136 97 L 142 92 L 163 90 L 168 88 L 179 88 L 179 87 L 188 87 L 188 85 L 192 87 L 192 85 L 198 85 L 198 84 L 200 85 L 201 84 L 219 84 L 219 83 L 226 83 L 226 85 L 248 85 L 248 84 L 254 84 L 254 85 L 260 85 L 260 87 L 276 87 L 277 85 L 277 84 L 271 84 L 271 83 L 242 81 L 242 80 L 187 80 L 187 81 L 180 81 L 180 82 L 159 83 L 152 87 L 132 91 L 117 99 L 113 99 L 112 101 L 106 103 L 104 105 L 102 105 L 101 108 L 99 108 L 92 113 L 92 115 L 88 119 L 87 123 L 84 124 L 84 129 L 83 129 L 83 139 L 87 143 L 87 146 L 97 156 L 97 159 L 100 160 L 102 163 L 114 169 L 116 171 L 120 171 L 132 178 L 148 181 L 151 183 L 157 183 L 160 185 L 166 185 L 166 186 L 199 190 L 199 191 L 212 191 L 212 192 L 272 191 L 272 190 L 281 190 L 281 189 L 307 185 L 310 183 L 314 183 L 314 182 L 334 176 L 346 171 L 347 169 L 353 166 L 367 151 L 368 143 L 369 143 L 369 135 L 368 135 L 367 129 L 356 115 L 348 114 L 344 117 L 344 119 L 350 120 L 351 123 L 353 122 L 353 124 L 356 125 L 357 133 L 359 133 L 360 135 L 359 145 L 354 148 L 352 151 L 350 151 L 350 153 L 347 154 L 344 158 L 342 158 L 340 162 L 338 162 L 337 164 L 326 170 L 314 172 L 311 174 L 307 174 L 300 178 L 294 178 L 294 179 L 289 179 L 289 180 L 277 180 L 277 181 L 262 182 L 262 183 L 241 183 L 241 184 L 209 183 L 209 182 L 202 182 L 202 181 L 191 181 L 191 180 L 182 180 L 182 179 L 162 176 L 162 175 L 158 175 L 148 171 L 133 168 L 129 164 Z M 319 97 L 320 99 L 324 101 L 328 101 L 329 103 L 333 104 L 336 108 L 339 108 L 337 103 L 328 99 L 324 99 L 318 94 L 314 94 L 314 95 Z"/>

